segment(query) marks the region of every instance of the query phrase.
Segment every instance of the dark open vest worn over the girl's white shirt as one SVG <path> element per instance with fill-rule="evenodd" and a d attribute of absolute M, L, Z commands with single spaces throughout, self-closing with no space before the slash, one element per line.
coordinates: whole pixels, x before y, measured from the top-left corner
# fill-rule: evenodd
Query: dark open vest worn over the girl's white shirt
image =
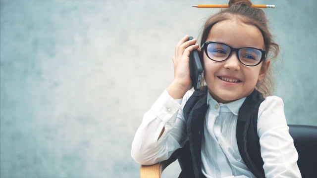
<path fill-rule="evenodd" d="M 237 144 L 240 155 L 257 178 L 265 178 L 257 134 L 258 112 L 262 101 L 264 101 L 263 95 L 255 89 L 243 102 L 237 121 Z M 207 89 L 194 91 L 184 106 L 189 140 L 179 151 L 178 160 L 182 168 L 180 178 L 205 178 L 202 173 L 201 150 L 204 120 L 208 108 Z"/>

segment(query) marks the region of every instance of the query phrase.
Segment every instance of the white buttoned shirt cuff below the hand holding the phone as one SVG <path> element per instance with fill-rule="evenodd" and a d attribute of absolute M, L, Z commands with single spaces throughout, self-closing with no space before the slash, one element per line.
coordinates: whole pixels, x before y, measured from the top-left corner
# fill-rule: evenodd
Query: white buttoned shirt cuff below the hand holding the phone
<path fill-rule="evenodd" d="M 173 99 L 165 89 L 152 105 L 151 110 L 163 122 L 175 122 L 181 102 L 182 99 Z"/>

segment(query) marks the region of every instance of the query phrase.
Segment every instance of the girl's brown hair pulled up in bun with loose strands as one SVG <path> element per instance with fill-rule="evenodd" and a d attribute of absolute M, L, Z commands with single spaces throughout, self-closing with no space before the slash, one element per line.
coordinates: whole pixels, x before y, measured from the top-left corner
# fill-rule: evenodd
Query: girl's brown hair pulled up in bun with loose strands
<path fill-rule="evenodd" d="M 201 34 L 201 46 L 207 41 L 211 28 L 214 24 L 229 20 L 237 19 L 245 24 L 254 25 L 262 32 L 264 39 L 264 50 L 266 51 L 266 58 L 275 59 L 279 53 L 279 46 L 273 41 L 268 27 L 268 21 L 262 9 L 251 7 L 250 0 L 229 0 L 229 8 L 220 10 L 218 13 L 211 15 L 203 27 Z M 266 63 L 263 62 L 262 68 L 266 68 Z M 264 79 L 258 82 L 256 89 L 264 96 L 271 95 L 274 91 L 274 80 L 271 76 L 270 68 L 267 70 Z M 204 84 L 203 84 L 204 85 Z"/>

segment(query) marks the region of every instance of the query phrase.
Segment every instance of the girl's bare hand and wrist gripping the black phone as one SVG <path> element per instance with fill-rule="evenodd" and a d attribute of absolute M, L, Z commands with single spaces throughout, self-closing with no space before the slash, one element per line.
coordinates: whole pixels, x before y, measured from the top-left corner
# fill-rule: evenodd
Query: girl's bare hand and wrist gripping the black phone
<path fill-rule="evenodd" d="M 178 42 L 175 47 L 174 63 L 174 81 L 167 88 L 169 95 L 174 99 L 182 98 L 185 93 L 192 88 L 192 81 L 189 72 L 189 55 L 190 52 L 199 49 L 199 45 L 195 45 L 197 40 L 188 41 L 189 36 L 186 35 Z"/>

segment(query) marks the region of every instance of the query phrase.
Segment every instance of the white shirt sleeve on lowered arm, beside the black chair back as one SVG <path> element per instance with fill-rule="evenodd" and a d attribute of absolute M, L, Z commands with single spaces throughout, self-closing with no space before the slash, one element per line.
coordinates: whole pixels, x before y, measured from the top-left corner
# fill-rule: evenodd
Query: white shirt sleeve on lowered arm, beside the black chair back
<path fill-rule="evenodd" d="M 266 97 L 259 108 L 258 135 L 267 178 L 301 178 L 298 153 L 288 130 L 282 99 Z"/>

